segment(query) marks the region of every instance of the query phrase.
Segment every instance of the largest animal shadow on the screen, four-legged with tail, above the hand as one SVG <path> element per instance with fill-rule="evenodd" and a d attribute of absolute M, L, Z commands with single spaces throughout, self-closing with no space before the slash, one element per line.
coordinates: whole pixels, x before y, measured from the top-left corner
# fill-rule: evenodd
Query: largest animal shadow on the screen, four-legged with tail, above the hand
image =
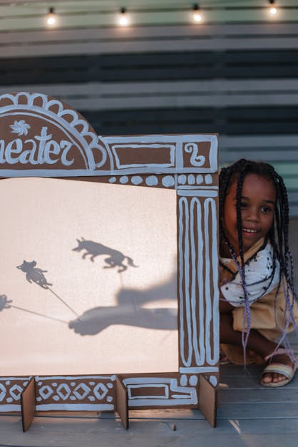
<path fill-rule="evenodd" d="M 123 255 L 122 252 L 119 252 L 118 250 L 113 250 L 113 248 L 107 247 L 106 245 L 99 244 L 98 242 L 94 242 L 93 240 L 85 240 L 83 237 L 81 237 L 81 240 L 78 240 L 78 247 L 73 248 L 73 252 L 81 252 L 81 250 L 86 250 L 86 252 L 83 254 L 83 260 L 86 258 L 86 256 L 91 255 L 91 261 L 94 262 L 94 258 L 96 256 L 100 255 L 108 255 L 108 257 L 105 258 L 105 262 L 108 265 L 105 265 L 104 269 L 113 269 L 115 267 L 118 268 L 118 273 L 124 272 L 128 266 L 123 264 L 125 260 L 127 260 L 127 263 L 130 267 L 138 267 L 138 265 L 135 265 L 133 263 L 133 260 L 131 257 Z"/>

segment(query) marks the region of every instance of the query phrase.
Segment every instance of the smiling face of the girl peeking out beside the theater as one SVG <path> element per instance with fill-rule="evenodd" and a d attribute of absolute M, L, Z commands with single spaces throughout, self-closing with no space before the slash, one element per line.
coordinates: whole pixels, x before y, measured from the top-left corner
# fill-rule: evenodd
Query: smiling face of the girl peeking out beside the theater
<path fill-rule="evenodd" d="M 239 242 L 236 210 L 237 178 L 228 188 L 223 210 L 223 226 L 235 254 L 238 256 Z M 243 251 L 246 252 L 261 237 L 269 232 L 274 219 L 276 190 L 272 180 L 256 174 L 247 174 L 242 185 L 241 221 Z M 225 247 L 222 247 L 225 250 Z M 227 252 L 222 253 L 222 256 Z M 230 255 L 230 252 L 229 252 Z"/>

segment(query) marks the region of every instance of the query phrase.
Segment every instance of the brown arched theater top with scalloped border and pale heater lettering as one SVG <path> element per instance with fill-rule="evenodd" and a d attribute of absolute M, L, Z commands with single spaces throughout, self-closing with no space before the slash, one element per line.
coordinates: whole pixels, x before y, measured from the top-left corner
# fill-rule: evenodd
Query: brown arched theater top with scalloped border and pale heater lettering
<path fill-rule="evenodd" d="M 0 96 L 0 166 L 3 176 L 6 170 L 11 176 L 11 169 L 90 175 L 112 168 L 105 142 L 78 111 L 50 96 L 26 92 Z"/>

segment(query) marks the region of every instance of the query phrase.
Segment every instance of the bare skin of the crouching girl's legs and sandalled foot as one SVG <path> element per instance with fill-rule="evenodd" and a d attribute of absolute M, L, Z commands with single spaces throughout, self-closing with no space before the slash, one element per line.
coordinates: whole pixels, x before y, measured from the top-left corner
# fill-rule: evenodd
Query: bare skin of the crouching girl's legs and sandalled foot
<path fill-rule="evenodd" d="M 227 303 L 228 304 L 228 303 Z M 232 313 L 227 312 L 227 306 L 222 307 L 222 312 L 220 313 L 220 342 L 227 344 L 236 344 L 238 346 L 242 346 L 242 333 L 240 331 L 235 331 L 232 327 Z M 274 349 L 276 349 L 277 344 L 274 341 L 270 341 L 266 339 L 266 337 L 262 336 L 260 332 L 256 329 L 250 330 L 250 336 L 247 341 L 247 348 L 252 349 L 257 352 L 263 358 L 269 354 L 272 354 Z M 287 354 L 279 354 L 274 356 L 274 361 L 277 363 L 287 364 L 289 366 L 293 366 L 291 359 L 287 356 Z M 284 380 L 284 376 L 282 374 L 277 373 L 267 373 L 264 374 L 262 381 L 264 383 L 269 382 L 279 382 Z"/>

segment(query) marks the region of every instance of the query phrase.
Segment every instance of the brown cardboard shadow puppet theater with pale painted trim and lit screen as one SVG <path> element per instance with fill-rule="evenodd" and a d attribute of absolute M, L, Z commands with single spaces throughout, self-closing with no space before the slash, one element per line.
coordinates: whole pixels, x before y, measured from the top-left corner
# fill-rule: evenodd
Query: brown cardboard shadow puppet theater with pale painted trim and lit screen
<path fill-rule="evenodd" d="M 215 426 L 217 136 L 98 137 L 66 103 L 5 94 L 0 178 L 0 411 Z"/>

